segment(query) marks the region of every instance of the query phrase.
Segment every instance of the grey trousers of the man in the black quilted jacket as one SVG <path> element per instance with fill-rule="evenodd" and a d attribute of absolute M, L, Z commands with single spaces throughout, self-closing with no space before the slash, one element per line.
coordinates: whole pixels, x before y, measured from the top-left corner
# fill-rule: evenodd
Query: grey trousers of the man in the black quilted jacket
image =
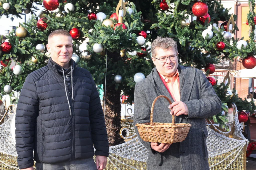
<path fill-rule="evenodd" d="M 93 158 L 77 159 L 56 164 L 35 163 L 36 170 L 96 170 Z"/>

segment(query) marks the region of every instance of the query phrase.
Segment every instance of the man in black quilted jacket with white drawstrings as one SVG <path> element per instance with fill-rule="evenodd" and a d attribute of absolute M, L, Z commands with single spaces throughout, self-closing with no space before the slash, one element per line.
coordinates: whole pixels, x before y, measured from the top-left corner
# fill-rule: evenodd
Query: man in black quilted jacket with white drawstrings
<path fill-rule="evenodd" d="M 67 31 L 53 31 L 46 47 L 51 54 L 47 66 L 27 76 L 19 96 L 19 168 L 33 170 L 34 157 L 37 170 L 104 169 L 109 144 L 93 78 L 71 59 L 72 37 Z"/>

